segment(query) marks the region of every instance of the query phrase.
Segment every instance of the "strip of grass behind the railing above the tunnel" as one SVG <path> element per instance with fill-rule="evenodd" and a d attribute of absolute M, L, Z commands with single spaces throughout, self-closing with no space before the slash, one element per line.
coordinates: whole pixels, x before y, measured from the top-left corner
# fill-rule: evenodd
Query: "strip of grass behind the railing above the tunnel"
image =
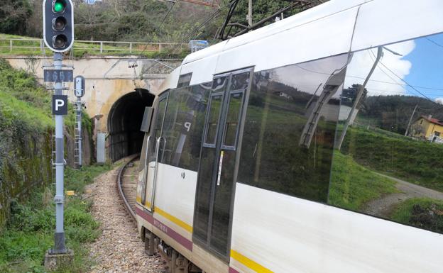
<path fill-rule="evenodd" d="M 13 40 L 13 46 L 18 47 L 35 47 L 35 48 L 13 48 L 12 52 L 9 48 L 9 40 L 0 40 L 0 56 L 1 55 L 51 55 L 52 51 L 48 48 L 45 48 L 45 51 L 42 52 L 40 50 L 40 42 L 26 39 L 35 39 L 30 37 L 18 36 L 18 35 L 8 35 L 1 34 L 0 39 L 21 39 L 21 40 Z M 109 45 L 105 44 L 103 46 L 103 52 L 100 53 L 100 45 L 99 43 L 74 43 L 74 50 L 72 51 L 72 55 L 74 57 L 84 57 L 87 55 L 113 55 L 113 56 L 127 56 L 127 55 L 141 55 L 143 57 L 148 58 L 179 58 L 182 59 L 186 57 L 190 53 L 190 51 L 186 48 L 184 49 L 176 49 L 176 48 L 165 48 L 160 52 L 158 50 L 153 50 L 146 48 L 145 45 L 133 45 L 134 50 L 142 50 L 142 51 L 119 51 L 119 50 L 128 50 L 129 45 L 127 44 L 114 44 Z"/>

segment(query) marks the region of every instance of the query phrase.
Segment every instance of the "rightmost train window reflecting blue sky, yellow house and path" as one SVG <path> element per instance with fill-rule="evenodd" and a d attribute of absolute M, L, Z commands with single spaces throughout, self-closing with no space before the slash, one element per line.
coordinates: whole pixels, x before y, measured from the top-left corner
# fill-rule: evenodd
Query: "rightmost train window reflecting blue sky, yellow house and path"
<path fill-rule="evenodd" d="M 329 204 L 443 233 L 442 47 L 437 34 L 352 54 Z"/>

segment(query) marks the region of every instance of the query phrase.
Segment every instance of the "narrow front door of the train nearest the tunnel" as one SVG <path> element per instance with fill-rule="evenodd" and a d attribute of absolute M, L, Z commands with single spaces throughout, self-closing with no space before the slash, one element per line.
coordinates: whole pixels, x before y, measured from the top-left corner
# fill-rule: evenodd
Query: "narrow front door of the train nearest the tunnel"
<path fill-rule="evenodd" d="M 153 130 L 147 140 L 147 157 L 146 157 L 146 172 L 145 183 L 146 191 L 142 196 L 142 204 L 148 211 L 153 212 L 154 194 L 156 184 L 157 165 L 159 155 L 163 155 L 164 139 L 162 138 L 163 123 L 165 120 L 165 111 L 168 105 L 168 92 L 163 93 L 158 98 L 157 111 L 155 113 L 155 120 L 153 123 Z"/>

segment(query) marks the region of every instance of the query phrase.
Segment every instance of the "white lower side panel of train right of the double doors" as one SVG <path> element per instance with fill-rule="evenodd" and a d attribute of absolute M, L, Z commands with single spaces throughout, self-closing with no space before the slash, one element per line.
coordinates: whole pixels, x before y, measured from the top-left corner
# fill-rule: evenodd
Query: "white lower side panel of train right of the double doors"
<path fill-rule="evenodd" d="M 238 272 L 440 273 L 443 235 L 237 183 Z"/>

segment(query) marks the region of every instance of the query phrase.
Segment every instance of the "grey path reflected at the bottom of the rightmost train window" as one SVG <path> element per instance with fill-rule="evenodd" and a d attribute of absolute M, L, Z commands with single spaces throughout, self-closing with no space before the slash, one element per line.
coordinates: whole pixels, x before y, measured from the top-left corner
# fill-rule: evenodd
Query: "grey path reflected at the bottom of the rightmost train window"
<path fill-rule="evenodd" d="M 393 208 L 395 208 L 395 205 L 399 204 L 402 201 L 405 201 L 406 199 L 427 197 L 430 199 L 443 200 L 443 193 L 440 191 L 427 189 L 424 186 L 419 186 L 416 184 L 412 184 L 410 182 L 405 182 L 401 179 L 390 177 L 385 174 L 379 174 L 379 175 L 397 182 L 395 186 L 400 192 L 396 194 L 388 194 L 380 199 L 376 199 L 369 202 L 366 205 L 365 210 L 363 211 L 365 213 L 375 216 L 388 217 L 390 216 L 390 213 L 393 211 Z"/>

